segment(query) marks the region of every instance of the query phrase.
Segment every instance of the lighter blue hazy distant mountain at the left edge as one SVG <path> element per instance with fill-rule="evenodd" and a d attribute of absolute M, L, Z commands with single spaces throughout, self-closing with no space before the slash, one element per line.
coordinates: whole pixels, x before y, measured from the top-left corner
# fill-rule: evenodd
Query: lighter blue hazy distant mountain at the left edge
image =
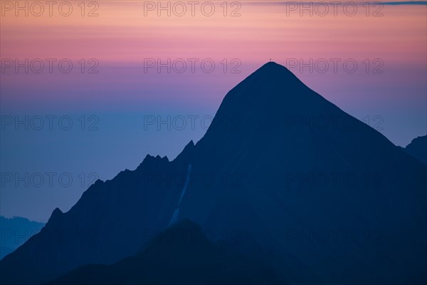
<path fill-rule="evenodd" d="M 27 239 L 40 232 L 44 223 L 22 217 L 0 216 L 0 259 L 21 246 Z"/>

